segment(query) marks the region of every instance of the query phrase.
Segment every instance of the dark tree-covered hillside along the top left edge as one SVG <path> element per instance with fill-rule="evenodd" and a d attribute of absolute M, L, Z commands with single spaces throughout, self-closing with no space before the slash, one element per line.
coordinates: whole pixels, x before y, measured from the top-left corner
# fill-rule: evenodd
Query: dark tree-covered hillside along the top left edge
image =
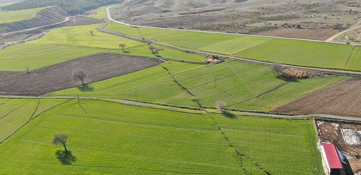
<path fill-rule="evenodd" d="M 123 0 L 26 0 L 1 7 L 1 10 L 24 10 L 59 5 L 70 14 L 82 14 L 100 6 L 118 4 Z"/>

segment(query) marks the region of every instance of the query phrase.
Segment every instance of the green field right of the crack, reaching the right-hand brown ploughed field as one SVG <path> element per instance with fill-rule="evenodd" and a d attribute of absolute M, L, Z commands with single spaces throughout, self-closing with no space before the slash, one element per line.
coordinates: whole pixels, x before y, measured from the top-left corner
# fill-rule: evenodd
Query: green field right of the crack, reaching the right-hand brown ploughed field
<path fill-rule="evenodd" d="M 204 106 L 225 101 L 229 108 L 260 111 L 271 110 L 347 78 L 309 78 L 287 82 L 270 73 L 266 66 L 238 61 L 225 61 L 174 74 L 174 77 Z"/>

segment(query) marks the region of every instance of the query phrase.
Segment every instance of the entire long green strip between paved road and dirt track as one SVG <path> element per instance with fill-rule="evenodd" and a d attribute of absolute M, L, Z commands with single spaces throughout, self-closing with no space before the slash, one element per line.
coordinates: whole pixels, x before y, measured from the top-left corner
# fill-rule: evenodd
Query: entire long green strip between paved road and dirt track
<path fill-rule="evenodd" d="M 131 27 L 111 22 L 106 29 L 177 46 L 284 64 L 361 70 L 358 58 L 348 59 L 355 46 L 290 39 Z M 355 47 L 355 50 L 359 47 Z M 352 62 L 351 62 L 352 61 Z M 355 63 L 355 64 L 354 64 Z M 347 64 L 347 65 L 346 65 Z"/>

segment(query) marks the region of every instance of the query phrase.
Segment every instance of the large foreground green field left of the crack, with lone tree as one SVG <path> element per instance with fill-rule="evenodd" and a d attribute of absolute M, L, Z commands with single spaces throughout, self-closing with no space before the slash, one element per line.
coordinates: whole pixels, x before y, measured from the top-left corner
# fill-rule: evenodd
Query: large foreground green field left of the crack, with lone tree
<path fill-rule="evenodd" d="M 121 168 L 125 174 L 245 175 L 238 156 L 207 115 L 81 100 L 85 114 L 77 103 L 39 115 L 1 144 L 2 170 L 117 174 Z M 74 168 L 56 159 L 60 146 L 49 143 L 56 133 L 69 135 L 68 149 L 77 157 Z"/>

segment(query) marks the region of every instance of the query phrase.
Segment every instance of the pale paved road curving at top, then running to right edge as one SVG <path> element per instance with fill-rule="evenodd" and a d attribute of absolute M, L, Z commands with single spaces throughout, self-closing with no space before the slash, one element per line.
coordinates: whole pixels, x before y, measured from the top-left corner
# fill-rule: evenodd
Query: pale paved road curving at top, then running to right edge
<path fill-rule="evenodd" d="M 113 7 L 113 6 L 112 6 Z M 127 26 L 134 26 L 131 24 L 126 24 L 121 21 L 114 20 L 112 16 L 110 15 L 110 9 L 111 7 L 106 8 L 106 17 L 113 22 L 127 25 Z M 302 38 L 287 38 L 287 37 L 272 37 L 272 36 L 265 36 L 265 35 L 247 35 L 247 34 L 237 34 L 237 33 L 223 33 L 223 32 L 217 32 L 217 31 L 200 31 L 200 30 L 186 30 L 186 29 L 174 29 L 174 28 L 162 28 L 162 27 L 149 27 L 149 26 L 139 26 L 137 27 L 145 27 L 145 28 L 152 28 L 152 29 L 163 29 L 163 30 L 182 30 L 182 31 L 195 31 L 195 32 L 202 32 L 202 33 L 218 33 L 218 34 L 228 34 L 228 35 L 242 35 L 242 36 L 251 36 L 251 37 L 265 37 L 265 38 L 280 38 L 280 39 L 293 39 L 293 40 L 304 40 L 304 41 L 313 41 L 313 42 L 322 42 L 322 43 L 335 43 L 335 44 L 346 44 L 341 42 L 332 42 L 331 40 L 315 40 L 315 39 L 302 39 Z M 357 27 L 356 27 L 357 28 Z M 348 45 L 355 45 L 355 46 L 361 46 L 361 44 L 348 44 Z"/>

